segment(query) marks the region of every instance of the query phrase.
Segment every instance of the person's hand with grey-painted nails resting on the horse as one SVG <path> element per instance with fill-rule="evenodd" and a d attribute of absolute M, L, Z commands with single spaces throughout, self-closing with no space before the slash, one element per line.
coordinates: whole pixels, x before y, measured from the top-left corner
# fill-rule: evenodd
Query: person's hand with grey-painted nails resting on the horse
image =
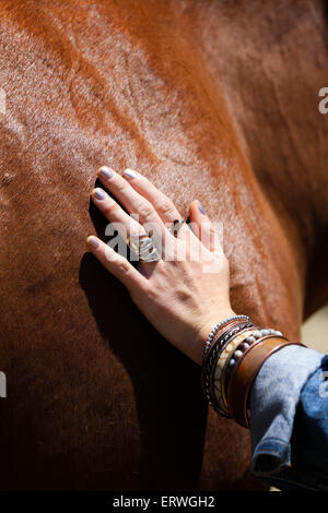
<path fill-rule="evenodd" d="M 94 236 L 87 238 L 90 250 L 127 287 L 151 324 L 201 363 L 211 330 L 234 315 L 229 295 L 229 263 L 213 224 L 200 203 L 194 201 L 189 208 L 192 230 L 185 223 L 174 237 L 168 228 L 181 215 L 145 177 L 130 169 L 120 176 L 104 166 L 98 178 L 130 215 L 99 188 L 92 192 L 94 204 L 125 239 L 131 234 L 149 234 L 145 228 L 151 226 L 155 246 L 162 249 L 162 260 L 139 261 L 136 269 L 109 243 Z"/>

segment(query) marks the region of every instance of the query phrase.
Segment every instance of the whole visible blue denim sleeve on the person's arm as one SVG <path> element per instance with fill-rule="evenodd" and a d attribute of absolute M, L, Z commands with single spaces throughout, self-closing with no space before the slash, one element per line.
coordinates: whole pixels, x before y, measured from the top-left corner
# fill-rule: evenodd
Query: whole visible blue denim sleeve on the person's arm
<path fill-rule="evenodd" d="M 328 491 L 328 356 L 288 346 L 268 358 L 250 391 L 250 434 L 262 482 Z"/>

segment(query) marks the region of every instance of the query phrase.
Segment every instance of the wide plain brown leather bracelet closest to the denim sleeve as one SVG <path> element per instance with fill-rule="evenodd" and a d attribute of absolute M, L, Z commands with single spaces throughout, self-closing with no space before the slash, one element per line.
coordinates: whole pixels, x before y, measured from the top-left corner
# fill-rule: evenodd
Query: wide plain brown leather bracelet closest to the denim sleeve
<path fill-rule="evenodd" d="M 232 417 L 244 428 L 249 428 L 247 399 L 257 373 L 269 356 L 289 345 L 306 347 L 286 338 L 266 336 L 253 344 L 233 369 L 227 384 L 227 405 Z"/>

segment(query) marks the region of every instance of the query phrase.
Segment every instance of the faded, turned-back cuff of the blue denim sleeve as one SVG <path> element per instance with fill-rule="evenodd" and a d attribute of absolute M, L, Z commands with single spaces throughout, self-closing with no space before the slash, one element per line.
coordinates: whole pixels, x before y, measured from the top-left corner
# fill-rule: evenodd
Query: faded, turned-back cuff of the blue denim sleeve
<path fill-rule="evenodd" d="M 301 392 L 324 355 L 302 346 L 274 353 L 261 367 L 250 391 L 250 469 L 274 478 L 291 468 L 291 438 Z"/>

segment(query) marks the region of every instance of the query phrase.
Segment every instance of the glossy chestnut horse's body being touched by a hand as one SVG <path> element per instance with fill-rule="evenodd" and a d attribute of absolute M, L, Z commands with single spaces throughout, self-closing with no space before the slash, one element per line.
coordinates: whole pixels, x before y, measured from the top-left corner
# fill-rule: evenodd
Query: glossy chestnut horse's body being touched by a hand
<path fill-rule="evenodd" d="M 47 7 L 48 4 L 48 7 Z M 2 489 L 253 489 L 249 434 L 87 254 L 96 169 L 224 227 L 232 301 L 293 339 L 328 298 L 319 1 L 0 4 Z"/>

